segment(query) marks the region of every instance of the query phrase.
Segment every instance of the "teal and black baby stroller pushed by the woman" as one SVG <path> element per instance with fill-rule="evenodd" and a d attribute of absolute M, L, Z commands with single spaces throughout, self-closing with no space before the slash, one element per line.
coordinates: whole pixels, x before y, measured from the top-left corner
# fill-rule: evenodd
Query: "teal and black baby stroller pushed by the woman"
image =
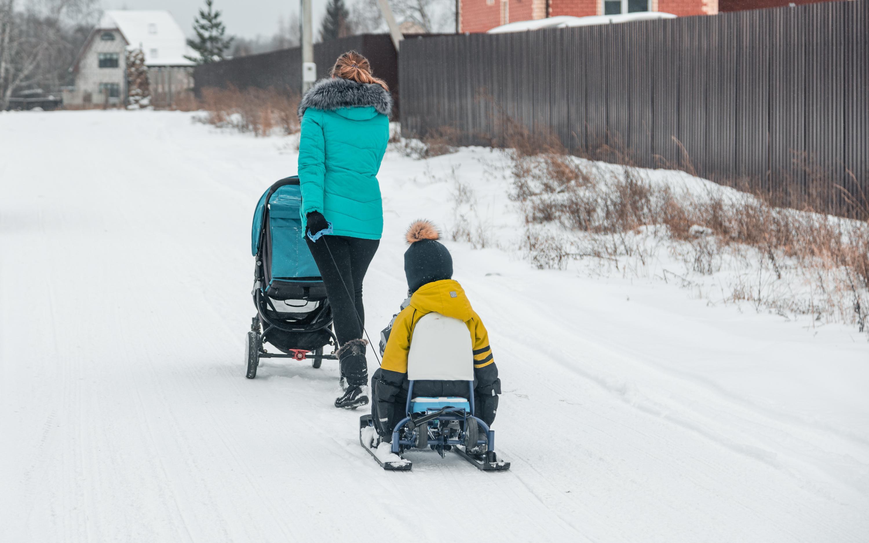
<path fill-rule="evenodd" d="M 262 358 L 309 359 L 314 368 L 323 359 L 337 360 L 332 308 L 305 243 L 301 207 L 297 175 L 275 182 L 256 204 L 251 234 L 256 316 L 245 347 L 248 379 L 256 377 Z M 269 353 L 267 342 L 279 352 Z M 327 346 L 331 354 L 324 354 Z"/>

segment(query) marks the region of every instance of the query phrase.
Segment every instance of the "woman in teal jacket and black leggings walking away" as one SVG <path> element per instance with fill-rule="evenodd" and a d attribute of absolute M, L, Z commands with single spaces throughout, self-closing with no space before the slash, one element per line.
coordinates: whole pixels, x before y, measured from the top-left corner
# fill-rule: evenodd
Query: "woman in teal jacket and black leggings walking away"
<path fill-rule="evenodd" d="M 335 407 L 368 403 L 362 339 L 362 279 L 383 231 L 377 171 L 389 139 L 392 96 L 355 51 L 302 97 L 299 181 L 306 241 L 320 268 L 335 320 L 344 394 Z"/>

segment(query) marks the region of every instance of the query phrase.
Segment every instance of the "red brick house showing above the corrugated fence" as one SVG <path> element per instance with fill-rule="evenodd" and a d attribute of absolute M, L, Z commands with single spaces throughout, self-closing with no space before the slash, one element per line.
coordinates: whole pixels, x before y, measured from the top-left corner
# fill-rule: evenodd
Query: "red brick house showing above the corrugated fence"
<path fill-rule="evenodd" d="M 664 11 L 680 17 L 714 15 L 718 4 L 719 0 L 459 0 L 459 27 L 461 32 L 485 32 L 515 21 L 635 11 Z"/>

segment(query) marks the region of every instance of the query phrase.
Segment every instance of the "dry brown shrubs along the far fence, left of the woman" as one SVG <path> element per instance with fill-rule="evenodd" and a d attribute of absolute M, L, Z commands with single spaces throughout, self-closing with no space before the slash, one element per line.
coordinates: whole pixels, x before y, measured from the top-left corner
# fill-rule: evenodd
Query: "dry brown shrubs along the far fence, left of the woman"
<path fill-rule="evenodd" d="M 202 122 L 253 132 L 255 136 L 269 136 L 274 129 L 281 129 L 286 135 L 297 132 L 298 107 L 299 96 L 290 91 L 273 88 L 242 91 L 232 86 L 202 89 L 202 108 L 208 111 Z"/>

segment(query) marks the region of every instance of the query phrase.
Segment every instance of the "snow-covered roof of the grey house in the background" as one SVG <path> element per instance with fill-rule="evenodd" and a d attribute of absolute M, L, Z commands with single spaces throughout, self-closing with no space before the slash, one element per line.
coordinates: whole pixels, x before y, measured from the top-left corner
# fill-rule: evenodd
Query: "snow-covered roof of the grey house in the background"
<path fill-rule="evenodd" d="M 147 66 L 192 66 L 184 55 L 193 52 L 187 37 L 166 10 L 109 10 L 100 19 L 100 29 L 120 30 L 130 48 L 142 48 Z"/>

